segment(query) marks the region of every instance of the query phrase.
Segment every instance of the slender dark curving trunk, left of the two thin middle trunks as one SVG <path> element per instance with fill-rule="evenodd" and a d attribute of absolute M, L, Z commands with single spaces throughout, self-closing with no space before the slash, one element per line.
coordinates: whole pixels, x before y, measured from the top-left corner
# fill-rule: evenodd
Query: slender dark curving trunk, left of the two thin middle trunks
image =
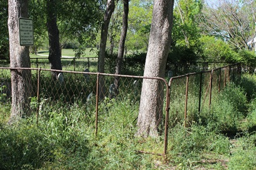
<path fill-rule="evenodd" d="M 99 59 L 98 59 L 98 72 L 105 72 L 105 52 L 107 44 L 107 32 L 109 29 L 109 22 L 111 20 L 112 13 L 115 9 L 115 1 L 107 0 L 107 9 L 104 14 L 104 19 L 101 26 L 101 44 L 99 46 Z M 99 77 L 99 98 L 104 98 L 106 87 L 104 78 Z"/>

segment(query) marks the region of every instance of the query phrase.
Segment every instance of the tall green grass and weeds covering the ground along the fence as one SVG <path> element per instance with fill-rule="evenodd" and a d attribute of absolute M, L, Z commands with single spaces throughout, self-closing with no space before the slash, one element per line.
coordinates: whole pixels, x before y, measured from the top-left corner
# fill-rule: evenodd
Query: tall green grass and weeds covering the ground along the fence
<path fill-rule="evenodd" d="M 143 154 L 163 153 L 164 136 L 134 136 L 139 101 L 132 95 L 100 102 L 97 135 L 95 102 L 49 100 L 40 110 L 38 125 L 34 109 L 34 116 L 12 126 L 7 125 L 10 103 L 1 103 L 0 169 L 254 169 L 255 133 L 240 127 L 255 126 L 256 106 L 255 100 L 247 102 L 245 92 L 234 84 L 214 92 L 210 109 L 197 115 L 200 121 L 191 121 L 189 128 L 171 117 L 165 159 Z M 35 101 L 31 98 L 34 108 Z M 172 104 L 183 112 L 179 101 Z M 243 135 L 237 136 L 237 145 L 230 143 L 227 131 Z"/>

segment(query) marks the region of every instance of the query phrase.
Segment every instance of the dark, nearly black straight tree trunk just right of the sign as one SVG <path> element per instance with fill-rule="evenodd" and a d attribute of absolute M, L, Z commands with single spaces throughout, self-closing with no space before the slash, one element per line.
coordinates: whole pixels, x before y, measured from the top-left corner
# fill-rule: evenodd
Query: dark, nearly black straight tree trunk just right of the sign
<path fill-rule="evenodd" d="M 56 0 L 47 0 L 47 29 L 49 36 L 49 62 L 51 69 L 62 70 L 61 66 L 61 46 L 59 44 L 59 29 L 57 28 L 57 4 Z M 54 80 L 57 79 L 58 72 L 52 72 Z"/>

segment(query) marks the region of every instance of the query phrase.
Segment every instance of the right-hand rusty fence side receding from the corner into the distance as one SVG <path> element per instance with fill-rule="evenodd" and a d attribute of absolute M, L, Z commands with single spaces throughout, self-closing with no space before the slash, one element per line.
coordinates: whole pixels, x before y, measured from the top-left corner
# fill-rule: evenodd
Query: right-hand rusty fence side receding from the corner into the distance
<path fill-rule="evenodd" d="M 169 80 L 169 126 L 198 122 L 200 113 L 209 111 L 213 93 L 220 92 L 229 82 L 240 80 L 240 64 L 229 65 L 199 73 L 189 73 Z"/>

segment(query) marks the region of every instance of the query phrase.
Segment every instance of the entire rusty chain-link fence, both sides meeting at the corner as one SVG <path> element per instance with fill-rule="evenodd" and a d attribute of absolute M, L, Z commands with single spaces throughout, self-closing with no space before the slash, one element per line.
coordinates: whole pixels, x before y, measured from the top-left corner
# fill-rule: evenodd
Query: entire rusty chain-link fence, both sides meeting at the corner
<path fill-rule="evenodd" d="M 161 105 L 165 116 L 162 119 L 164 146 L 163 153 L 160 153 L 160 155 L 167 153 L 168 131 L 170 128 L 177 123 L 189 126 L 194 121 L 198 122 L 200 114 L 209 110 L 211 100 L 214 98 L 212 94 L 220 92 L 227 83 L 238 80 L 241 73 L 240 65 L 234 64 L 205 72 L 172 77 L 168 83 L 167 78 L 158 77 L 50 70 L 46 68 L 0 67 L 1 93 L 6 94 L 6 102 L 8 102 L 8 97 L 11 97 L 11 71 L 15 70 L 31 70 L 29 95 L 30 98 L 36 100 L 36 105 L 31 106 L 31 110 L 37 115 L 37 120 L 44 113 L 44 106 L 57 102 L 65 105 L 79 102 L 87 107 L 91 106 L 90 110 L 84 110 L 85 114 L 87 111 L 95 113 L 96 135 L 98 123 L 104 121 L 104 116 L 102 116 L 104 114 L 101 112 L 106 111 L 99 109 L 101 103 L 111 101 L 111 99 L 117 101 L 129 100 L 132 103 L 133 110 L 139 113 L 143 80 L 155 79 L 160 81 L 162 85 L 162 88 L 160 88 L 162 92 L 160 93 L 164 93 L 164 100 Z M 52 72 L 58 72 L 58 77 L 53 78 Z M 115 80 L 118 80 L 118 83 L 115 83 Z"/>

